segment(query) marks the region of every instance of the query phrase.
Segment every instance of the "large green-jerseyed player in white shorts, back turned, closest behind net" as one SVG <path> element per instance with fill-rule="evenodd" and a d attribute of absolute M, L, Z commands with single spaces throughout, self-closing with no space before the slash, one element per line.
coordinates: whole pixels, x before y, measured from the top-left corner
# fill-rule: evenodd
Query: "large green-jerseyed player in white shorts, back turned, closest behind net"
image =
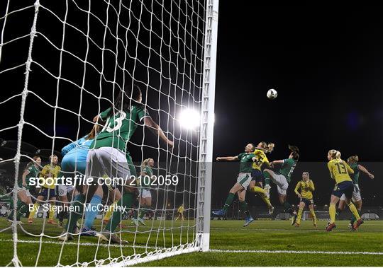
<path fill-rule="evenodd" d="M 135 168 L 129 155 L 127 148 L 128 141 L 133 136 L 138 125 L 144 125 L 172 147 L 173 142 L 167 139 L 160 126 L 156 124 L 144 105 L 141 103 L 142 93 L 136 85 L 129 85 L 120 91 L 118 97 L 114 99 L 113 107 L 109 107 L 104 112 L 94 117 L 94 122 L 104 126 L 89 146 L 87 156 L 86 177 L 94 178 L 92 185 L 77 185 L 79 194 L 74 199 L 72 206 L 74 211 L 70 214 L 70 219 L 66 226 L 66 232 L 72 233 L 75 223 L 82 216 L 84 206 L 94 195 L 98 187 L 97 181 L 104 175 L 113 178 L 119 178 L 119 187 L 122 187 L 122 198 L 118 201 L 117 206 L 121 209 L 115 210 L 99 237 L 108 240 L 111 243 L 121 243 L 117 235 L 112 235 L 118 224 L 121 222 L 121 211 L 128 211 L 132 207 L 136 187 L 132 187 L 130 182 L 134 180 L 131 176 L 135 176 Z M 70 239 L 70 235 L 63 233 L 60 240 Z"/>

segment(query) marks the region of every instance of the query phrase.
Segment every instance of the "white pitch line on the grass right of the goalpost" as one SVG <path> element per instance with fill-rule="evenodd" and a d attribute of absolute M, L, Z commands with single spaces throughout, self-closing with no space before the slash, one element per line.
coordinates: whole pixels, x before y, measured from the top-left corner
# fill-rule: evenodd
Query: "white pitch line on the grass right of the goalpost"
<path fill-rule="evenodd" d="M 345 255 L 383 255 L 383 252 L 359 251 L 309 251 L 309 250 L 209 250 L 209 252 L 228 253 L 288 253 L 288 254 L 345 254 Z"/>

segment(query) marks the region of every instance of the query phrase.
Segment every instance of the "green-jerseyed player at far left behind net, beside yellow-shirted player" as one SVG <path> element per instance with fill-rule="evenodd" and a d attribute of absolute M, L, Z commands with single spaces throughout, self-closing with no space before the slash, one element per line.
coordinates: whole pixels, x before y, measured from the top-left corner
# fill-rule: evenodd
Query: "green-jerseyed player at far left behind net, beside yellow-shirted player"
<path fill-rule="evenodd" d="M 26 213 L 29 209 L 29 206 L 33 206 L 32 198 L 30 197 L 30 183 L 29 179 L 31 177 L 39 177 L 41 158 L 40 156 L 33 156 L 33 161 L 30 161 L 26 168 L 23 171 L 21 180 L 18 181 L 19 190 L 17 192 L 17 209 L 16 209 L 16 222 L 21 223 L 21 216 Z M 12 203 L 11 203 L 12 204 Z M 8 221 L 13 222 L 13 212 L 8 216 Z"/>

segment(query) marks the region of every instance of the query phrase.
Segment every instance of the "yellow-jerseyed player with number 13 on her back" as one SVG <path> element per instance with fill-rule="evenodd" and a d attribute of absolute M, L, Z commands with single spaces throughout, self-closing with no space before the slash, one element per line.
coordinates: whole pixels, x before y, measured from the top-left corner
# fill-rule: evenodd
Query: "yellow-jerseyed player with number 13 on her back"
<path fill-rule="evenodd" d="M 353 180 L 350 178 L 350 174 L 354 174 L 354 170 L 350 168 L 350 165 L 345 163 L 340 159 L 340 151 L 330 150 L 328 151 L 328 170 L 330 171 L 331 178 L 335 180 L 335 187 L 333 193 L 331 194 L 330 207 L 328 212 L 330 214 L 330 222 L 326 228 L 326 231 L 332 231 L 335 228 L 335 206 L 338 203 L 340 197 L 345 194 L 345 202 L 348 204 L 348 208 L 354 214 L 356 222 L 354 228 L 357 229 L 362 223 L 363 220 L 360 218 L 359 213 L 353 202 L 351 202 L 351 197 L 353 197 Z"/>

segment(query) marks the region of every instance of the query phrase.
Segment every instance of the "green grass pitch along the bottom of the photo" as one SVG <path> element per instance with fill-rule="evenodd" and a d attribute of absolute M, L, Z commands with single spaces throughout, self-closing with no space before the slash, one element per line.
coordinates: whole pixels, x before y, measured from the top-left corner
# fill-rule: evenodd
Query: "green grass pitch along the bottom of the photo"
<path fill-rule="evenodd" d="M 25 219 L 23 219 L 25 222 Z M 123 222 L 128 231 L 135 227 L 130 221 Z M 135 236 L 135 253 L 145 252 L 145 245 L 150 247 L 170 247 L 191 242 L 193 230 L 184 221 L 146 221 L 147 226 L 140 226 L 139 235 Z M 193 221 L 189 221 L 192 226 Z M 322 251 L 322 252 L 383 252 L 383 221 L 366 221 L 359 231 L 348 231 L 347 221 L 338 221 L 333 232 L 325 231 L 326 221 L 318 221 L 318 228 L 313 228 L 311 221 L 303 221 L 301 227 L 295 228 L 289 221 L 255 221 L 243 228 L 243 221 L 211 221 L 211 252 L 194 252 L 177 255 L 155 262 L 146 262 L 142 266 L 380 266 L 383 254 L 324 254 L 324 253 L 287 253 L 287 252 L 253 252 L 256 250 L 284 251 Z M 101 225 L 96 221 L 96 228 Z M 0 230 L 9 227 L 6 219 L 0 219 Z M 23 224 L 29 233 L 38 235 L 43 228 L 41 220 Z M 159 230 L 160 232 L 156 232 Z M 172 231 L 170 231 L 172 228 Z M 150 229 L 155 230 L 150 233 Z M 60 235 L 62 228 L 45 224 L 46 235 Z M 181 235 L 182 233 L 182 235 Z M 40 239 L 43 243 L 40 243 Z M 123 239 L 133 243 L 134 234 L 124 233 Z M 33 237 L 23 233 L 18 227 L 18 257 L 24 266 L 55 266 L 59 260 L 62 244 L 57 238 Z M 97 247 L 97 238 L 78 238 L 64 245 L 60 264 L 70 265 L 77 262 L 91 262 L 96 256 L 101 258 L 118 258 L 133 254 L 133 248 Z M 173 241 L 173 244 L 172 244 Z M 0 233 L 0 266 L 11 262 L 13 257 L 12 233 L 8 229 Z M 40 248 L 41 246 L 41 248 Z M 36 257 L 40 250 L 40 257 Z M 217 252 L 214 250 L 228 250 Z M 252 252 L 233 252 L 251 250 Z M 107 263 L 107 262 L 106 262 Z"/>

